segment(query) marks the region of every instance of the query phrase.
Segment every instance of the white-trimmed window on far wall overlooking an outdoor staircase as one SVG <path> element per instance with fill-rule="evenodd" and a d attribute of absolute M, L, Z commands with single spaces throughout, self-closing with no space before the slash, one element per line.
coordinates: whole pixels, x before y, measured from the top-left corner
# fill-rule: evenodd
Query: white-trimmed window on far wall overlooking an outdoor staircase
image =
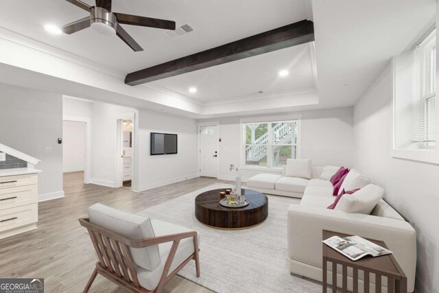
<path fill-rule="evenodd" d="M 298 120 L 242 124 L 245 166 L 280 167 L 298 156 Z"/>

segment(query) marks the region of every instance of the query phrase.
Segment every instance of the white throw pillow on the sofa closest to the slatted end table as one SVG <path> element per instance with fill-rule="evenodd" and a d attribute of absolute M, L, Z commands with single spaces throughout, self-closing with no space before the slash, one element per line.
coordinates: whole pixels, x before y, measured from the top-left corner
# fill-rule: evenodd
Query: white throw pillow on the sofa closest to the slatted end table
<path fill-rule="evenodd" d="M 335 209 L 345 213 L 370 215 L 379 200 L 383 198 L 383 194 L 384 190 L 381 187 L 369 184 L 353 194 L 344 194 Z"/>

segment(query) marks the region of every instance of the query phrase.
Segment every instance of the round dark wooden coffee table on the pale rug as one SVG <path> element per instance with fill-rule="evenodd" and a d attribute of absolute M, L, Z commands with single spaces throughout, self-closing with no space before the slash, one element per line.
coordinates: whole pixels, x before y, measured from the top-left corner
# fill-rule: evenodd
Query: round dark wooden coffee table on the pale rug
<path fill-rule="evenodd" d="M 213 228 L 240 229 L 261 224 L 268 217 L 268 198 L 265 194 L 242 189 L 248 206 L 228 208 L 219 204 L 221 191 L 226 189 L 209 190 L 195 198 L 195 217 L 203 224 Z"/>

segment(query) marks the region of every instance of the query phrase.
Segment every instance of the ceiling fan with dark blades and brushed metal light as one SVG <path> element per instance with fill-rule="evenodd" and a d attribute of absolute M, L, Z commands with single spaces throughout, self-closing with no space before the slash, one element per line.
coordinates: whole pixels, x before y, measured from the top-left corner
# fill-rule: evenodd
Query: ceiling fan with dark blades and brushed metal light
<path fill-rule="evenodd" d="M 136 16 L 123 13 L 111 12 L 112 0 L 96 0 L 95 6 L 90 6 L 80 0 L 66 0 L 73 5 L 90 12 L 90 16 L 84 17 L 68 25 L 61 27 L 65 34 L 73 34 L 91 26 L 102 34 L 117 34 L 128 46 L 134 51 L 143 51 L 142 47 L 123 30 L 119 23 L 126 25 L 140 25 L 143 27 L 154 27 L 165 30 L 175 30 L 175 21 L 166 21 L 164 19 L 152 19 L 151 17 Z"/>

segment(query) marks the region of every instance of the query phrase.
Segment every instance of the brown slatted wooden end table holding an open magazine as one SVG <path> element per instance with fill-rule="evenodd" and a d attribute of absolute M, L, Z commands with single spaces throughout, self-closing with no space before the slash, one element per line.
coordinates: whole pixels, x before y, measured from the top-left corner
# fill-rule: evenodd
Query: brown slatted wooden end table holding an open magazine
<path fill-rule="evenodd" d="M 351 236 L 344 233 L 323 230 L 322 239 L 328 239 L 332 236 L 346 237 Z M 368 238 L 366 238 L 368 239 Z M 379 246 L 385 246 L 385 243 L 375 239 L 368 239 Z M 342 292 L 348 292 L 348 267 L 353 268 L 353 293 L 358 292 L 358 270 L 364 271 L 364 292 L 369 292 L 369 274 L 375 274 L 375 292 L 381 293 L 381 277 L 387 277 L 388 292 L 407 293 L 407 277 L 392 254 L 381 257 L 366 256 L 357 261 L 352 261 L 333 248 L 323 245 L 323 292 L 327 292 L 327 261 L 332 263 L 332 288 L 337 288 L 337 264 L 342 266 Z M 335 272 L 335 273 L 334 273 Z"/>

